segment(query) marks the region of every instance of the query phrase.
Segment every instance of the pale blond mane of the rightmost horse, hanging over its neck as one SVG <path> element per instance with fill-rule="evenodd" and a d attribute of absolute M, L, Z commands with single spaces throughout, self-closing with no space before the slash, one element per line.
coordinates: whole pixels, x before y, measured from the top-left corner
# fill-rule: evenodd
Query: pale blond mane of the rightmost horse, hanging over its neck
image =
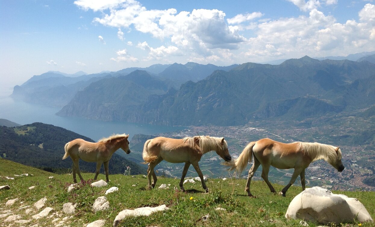
<path fill-rule="evenodd" d="M 333 163 L 337 159 L 341 160 L 342 154 L 339 152 L 336 154 L 336 147 L 323 143 L 308 143 L 308 142 L 296 142 L 299 143 L 297 149 L 305 151 L 305 153 L 312 159 L 312 161 L 324 159 L 328 163 Z"/>

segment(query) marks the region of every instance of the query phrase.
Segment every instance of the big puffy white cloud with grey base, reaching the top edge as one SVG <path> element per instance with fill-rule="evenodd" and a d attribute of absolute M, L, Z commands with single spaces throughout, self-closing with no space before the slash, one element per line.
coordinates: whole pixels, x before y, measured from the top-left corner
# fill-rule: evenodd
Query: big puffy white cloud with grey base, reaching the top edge
<path fill-rule="evenodd" d="M 96 1 L 78 0 L 77 6 L 88 10 L 110 10 L 103 13 L 101 18 L 93 21 L 102 25 L 129 28 L 149 33 L 160 40 L 168 38 L 178 48 L 197 48 L 201 52 L 210 52 L 207 49 L 226 48 L 238 49 L 239 43 L 246 38 L 230 29 L 225 23 L 225 13 L 221 10 L 194 9 L 192 12 L 176 9 L 147 10 L 138 1 L 112 0 L 96 3 Z M 245 17 L 256 17 L 246 15 Z"/>

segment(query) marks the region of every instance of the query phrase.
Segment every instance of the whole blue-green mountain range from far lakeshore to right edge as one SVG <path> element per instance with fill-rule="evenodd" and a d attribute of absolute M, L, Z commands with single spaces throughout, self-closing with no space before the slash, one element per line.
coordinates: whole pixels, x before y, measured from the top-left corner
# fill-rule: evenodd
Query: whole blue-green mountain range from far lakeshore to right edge
<path fill-rule="evenodd" d="M 303 119 L 370 108 L 374 85 L 375 64 L 308 56 L 280 65 L 245 63 L 216 70 L 179 90 L 137 70 L 89 85 L 58 115 L 163 125 L 243 125 L 253 119 Z"/>

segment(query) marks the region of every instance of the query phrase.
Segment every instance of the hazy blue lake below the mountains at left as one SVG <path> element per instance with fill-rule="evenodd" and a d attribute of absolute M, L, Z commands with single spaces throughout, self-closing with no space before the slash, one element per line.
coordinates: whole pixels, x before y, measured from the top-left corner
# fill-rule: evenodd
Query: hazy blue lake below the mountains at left
<path fill-rule="evenodd" d="M 60 107 L 34 105 L 13 100 L 7 96 L 0 96 L 0 118 L 21 125 L 34 122 L 52 124 L 74 131 L 83 136 L 87 136 L 95 141 L 102 137 L 110 136 L 113 133 L 126 133 L 129 134 L 129 138 L 131 139 L 134 134 L 153 135 L 186 128 L 114 121 L 106 122 L 80 117 L 63 117 L 55 115 L 60 109 Z"/>

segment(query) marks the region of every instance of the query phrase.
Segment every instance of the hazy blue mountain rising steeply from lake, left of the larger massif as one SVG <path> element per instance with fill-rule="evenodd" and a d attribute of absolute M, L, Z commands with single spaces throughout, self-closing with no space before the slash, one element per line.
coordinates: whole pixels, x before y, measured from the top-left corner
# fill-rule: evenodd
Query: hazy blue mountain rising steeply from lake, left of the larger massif
<path fill-rule="evenodd" d="M 136 111 L 152 94 L 166 93 L 168 86 L 146 71 L 105 78 L 79 91 L 57 115 L 83 116 L 104 121 L 139 121 Z"/>

